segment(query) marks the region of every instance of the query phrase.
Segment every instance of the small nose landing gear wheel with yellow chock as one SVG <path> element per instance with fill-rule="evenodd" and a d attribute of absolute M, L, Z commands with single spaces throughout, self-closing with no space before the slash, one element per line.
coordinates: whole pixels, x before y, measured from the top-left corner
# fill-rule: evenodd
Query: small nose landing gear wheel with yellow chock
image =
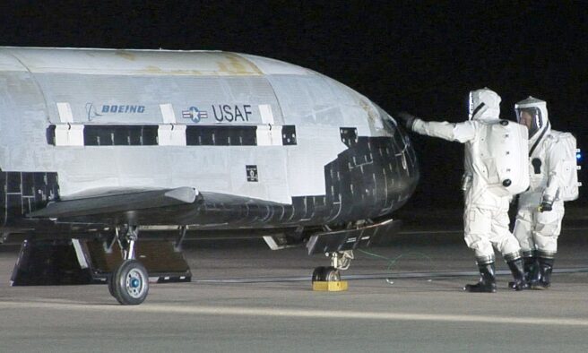
<path fill-rule="evenodd" d="M 347 282 L 341 280 L 341 271 L 347 270 L 353 260 L 353 251 L 326 253 L 331 257 L 331 266 L 320 266 L 313 271 L 312 284 L 314 290 L 346 290 Z"/>

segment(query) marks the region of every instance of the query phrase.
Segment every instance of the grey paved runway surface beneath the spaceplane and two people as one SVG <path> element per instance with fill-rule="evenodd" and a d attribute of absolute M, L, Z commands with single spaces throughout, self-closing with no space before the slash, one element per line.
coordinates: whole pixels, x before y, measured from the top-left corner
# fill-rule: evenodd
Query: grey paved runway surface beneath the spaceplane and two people
<path fill-rule="evenodd" d="M 141 306 L 117 305 L 104 285 L 10 287 L 17 248 L 0 247 L 0 351 L 585 352 L 587 236 L 564 229 L 556 268 L 576 272 L 554 274 L 549 290 L 513 292 L 504 274 L 496 294 L 462 291 L 477 276 L 459 231 L 356 252 L 339 293 L 311 290 L 328 261 L 304 248 L 192 241 L 193 282 L 152 284 Z"/>

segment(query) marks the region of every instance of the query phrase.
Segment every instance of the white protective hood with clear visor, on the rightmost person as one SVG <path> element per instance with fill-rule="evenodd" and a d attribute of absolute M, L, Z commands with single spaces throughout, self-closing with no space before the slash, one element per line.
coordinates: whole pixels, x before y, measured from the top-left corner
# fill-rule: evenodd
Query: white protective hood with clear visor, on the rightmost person
<path fill-rule="evenodd" d="M 534 143 L 540 136 L 546 136 L 551 130 L 547 103 L 545 100 L 529 97 L 515 104 L 516 120 L 519 124 L 525 124 L 527 119 L 531 120 L 529 128 L 529 142 Z M 522 122 L 523 119 L 523 122 Z"/>

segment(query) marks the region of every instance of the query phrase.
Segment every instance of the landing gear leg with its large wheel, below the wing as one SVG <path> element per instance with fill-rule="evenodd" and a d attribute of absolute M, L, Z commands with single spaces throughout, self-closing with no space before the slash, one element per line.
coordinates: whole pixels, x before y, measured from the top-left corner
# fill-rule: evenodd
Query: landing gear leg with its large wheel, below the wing
<path fill-rule="evenodd" d="M 138 238 L 136 226 L 126 229 L 123 239 L 118 237 L 118 245 L 123 252 L 123 263 L 108 277 L 108 291 L 118 303 L 124 306 L 136 306 L 145 300 L 149 293 L 149 276 L 143 264 L 134 259 L 134 243 Z"/>

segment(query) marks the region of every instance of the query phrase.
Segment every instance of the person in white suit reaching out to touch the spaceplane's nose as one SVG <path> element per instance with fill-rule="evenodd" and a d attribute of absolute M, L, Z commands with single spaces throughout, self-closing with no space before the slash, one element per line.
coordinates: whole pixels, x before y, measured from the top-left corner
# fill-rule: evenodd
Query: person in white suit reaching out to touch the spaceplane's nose
<path fill-rule="evenodd" d="M 502 254 L 513 274 L 515 281 L 511 288 L 515 290 L 528 288 L 523 274 L 521 248 L 508 230 L 508 207 L 512 196 L 492 193 L 484 176 L 486 167 L 483 159 L 485 155 L 488 155 L 488 147 L 484 147 L 484 139 L 488 136 L 489 126 L 499 122 L 508 125 L 508 121 L 499 119 L 500 100 L 497 93 L 488 88 L 472 90 L 469 120 L 457 124 L 426 122 L 405 112 L 397 115 L 409 131 L 465 144 L 464 237 L 466 244 L 475 253 L 480 270 L 480 281 L 477 284 L 467 284 L 463 288 L 469 292 L 496 292 L 494 248 Z M 524 146 L 525 129 L 519 129 L 515 123 L 512 124 L 511 127 L 516 127 L 517 131 L 523 131 L 523 135 L 519 137 L 519 143 Z M 526 155 L 518 162 L 520 174 L 527 170 L 525 162 Z M 524 188 L 526 187 L 527 185 L 524 185 Z"/>

